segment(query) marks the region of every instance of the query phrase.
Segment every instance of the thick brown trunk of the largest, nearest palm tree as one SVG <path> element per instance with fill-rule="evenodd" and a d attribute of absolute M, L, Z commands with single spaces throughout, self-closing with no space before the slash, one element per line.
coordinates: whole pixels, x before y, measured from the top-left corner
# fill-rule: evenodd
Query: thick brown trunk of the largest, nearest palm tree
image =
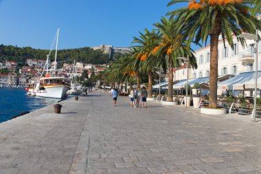
<path fill-rule="evenodd" d="M 210 35 L 209 108 L 216 108 L 218 89 L 218 35 Z"/>

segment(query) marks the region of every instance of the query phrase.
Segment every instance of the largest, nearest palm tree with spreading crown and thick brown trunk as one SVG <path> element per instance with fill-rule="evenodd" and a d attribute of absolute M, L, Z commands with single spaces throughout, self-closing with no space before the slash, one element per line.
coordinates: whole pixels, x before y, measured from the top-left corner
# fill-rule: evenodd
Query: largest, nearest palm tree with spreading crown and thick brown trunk
<path fill-rule="evenodd" d="M 255 34 L 260 29 L 258 19 L 251 14 L 255 4 L 249 0 L 172 0 L 175 3 L 188 2 L 188 7 L 168 12 L 170 17 L 183 23 L 189 40 L 199 43 L 207 42 L 210 36 L 210 76 L 209 76 L 209 107 L 216 108 L 218 80 L 218 36 L 222 36 L 234 48 L 233 34 L 242 31 Z M 240 39 L 243 43 L 244 39 Z"/>

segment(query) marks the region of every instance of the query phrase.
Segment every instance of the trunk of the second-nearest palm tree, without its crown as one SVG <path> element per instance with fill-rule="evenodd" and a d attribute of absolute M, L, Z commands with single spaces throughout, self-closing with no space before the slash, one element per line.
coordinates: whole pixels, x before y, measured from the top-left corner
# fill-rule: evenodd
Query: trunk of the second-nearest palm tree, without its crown
<path fill-rule="evenodd" d="M 168 58 L 168 98 L 167 102 L 172 102 L 173 101 L 173 61 L 172 61 L 172 56 L 170 54 Z"/>

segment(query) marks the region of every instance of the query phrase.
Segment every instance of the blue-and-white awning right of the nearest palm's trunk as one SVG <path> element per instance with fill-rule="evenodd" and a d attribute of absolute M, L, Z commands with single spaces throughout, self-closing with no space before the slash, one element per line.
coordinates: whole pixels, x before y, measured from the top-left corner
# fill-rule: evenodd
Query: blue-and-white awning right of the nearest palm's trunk
<path fill-rule="evenodd" d="M 258 72 L 258 88 L 261 88 L 261 72 Z M 244 72 L 218 84 L 218 89 L 243 90 L 254 88 L 255 72 Z"/>

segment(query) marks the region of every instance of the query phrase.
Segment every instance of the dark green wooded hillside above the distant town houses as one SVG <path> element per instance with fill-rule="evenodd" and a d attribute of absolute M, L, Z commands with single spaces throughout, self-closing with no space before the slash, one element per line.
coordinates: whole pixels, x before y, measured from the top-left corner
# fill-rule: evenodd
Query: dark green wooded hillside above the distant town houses
<path fill-rule="evenodd" d="M 16 61 L 19 66 L 25 65 L 27 58 L 43 59 L 47 58 L 49 50 L 34 49 L 32 47 L 14 47 L 12 45 L 0 45 L 0 62 Z M 55 50 L 51 52 L 51 61 L 54 61 Z M 112 57 L 119 57 L 120 54 L 116 53 Z M 57 53 L 58 63 L 91 63 L 103 64 L 107 63 L 109 54 L 103 54 L 100 50 L 93 50 L 90 47 L 81 47 L 76 49 L 58 50 Z M 110 59 L 111 59 L 110 58 Z"/>

